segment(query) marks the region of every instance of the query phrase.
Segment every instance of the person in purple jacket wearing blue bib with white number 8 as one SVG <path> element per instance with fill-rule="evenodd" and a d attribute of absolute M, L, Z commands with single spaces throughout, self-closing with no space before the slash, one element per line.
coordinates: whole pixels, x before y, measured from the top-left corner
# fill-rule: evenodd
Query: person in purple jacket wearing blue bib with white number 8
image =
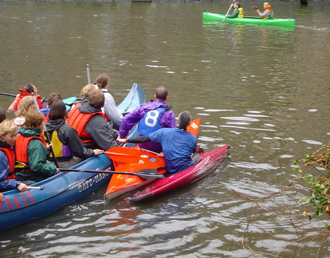
<path fill-rule="evenodd" d="M 124 116 L 119 127 L 119 137 L 126 138 L 135 124 L 139 123 L 140 136 L 148 136 L 150 133 L 162 128 L 175 128 L 175 114 L 168 106 L 168 89 L 164 86 L 157 87 L 155 100 L 144 103 Z M 162 152 L 162 145 L 157 142 L 140 144 L 142 149 Z"/>

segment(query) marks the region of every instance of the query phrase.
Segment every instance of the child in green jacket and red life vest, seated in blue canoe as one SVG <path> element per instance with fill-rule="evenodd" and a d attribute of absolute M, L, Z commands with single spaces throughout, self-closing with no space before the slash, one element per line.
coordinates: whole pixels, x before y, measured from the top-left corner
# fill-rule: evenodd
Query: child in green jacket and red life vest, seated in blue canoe
<path fill-rule="evenodd" d="M 47 163 L 50 145 L 41 137 L 43 119 L 40 111 L 25 114 L 25 123 L 19 129 L 15 145 L 17 161 L 25 164 L 25 169 L 16 174 L 17 180 L 39 182 L 60 172 L 55 164 Z"/>

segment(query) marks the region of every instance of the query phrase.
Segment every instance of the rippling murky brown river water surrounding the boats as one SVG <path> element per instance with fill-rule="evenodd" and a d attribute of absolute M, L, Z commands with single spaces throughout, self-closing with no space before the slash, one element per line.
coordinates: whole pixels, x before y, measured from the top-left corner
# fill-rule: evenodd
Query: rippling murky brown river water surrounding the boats
<path fill-rule="evenodd" d="M 164 85 L 175 114 L 188 110 L 202 118 L 199 147 L 232 146 L 217 171 L 146 204 L 130 205 L 127 197 L 106 204 L 103 186 L 5 230 L 1 257 L 270 257 L 283 249 L 280 257 L 293 250 L 293 257 L 330 257 L 327 237 L 320 250 L 317 239 L 285 247 L 297 231 L 303 230 L 299 237 L 315 233 L 272 213 L 299 200 L 306 193 L 300 187 L 261 200 L 267 210 L 249 224 L 244 246 L 256 210 L 232 191 L 252 199 L 280 191 L 294 177 L 292 160 L 329 142 L 330 6 L 274 6 L 276 17 L 296 19 L 292 28 L 201 19 L 202 12 L 225 13 L 228 3 L 0 6 L 1 92 L 17 94 L 34 83 L 45 97 L 74 96 L 87 84 L 88 63 L 92 79 L 109 74 L 117 103 L 133 83 L 147 99 Z M 0 96 L 2 107 L 12 100 Z M 322 226 L 327 219 L 309 223 Z"/>

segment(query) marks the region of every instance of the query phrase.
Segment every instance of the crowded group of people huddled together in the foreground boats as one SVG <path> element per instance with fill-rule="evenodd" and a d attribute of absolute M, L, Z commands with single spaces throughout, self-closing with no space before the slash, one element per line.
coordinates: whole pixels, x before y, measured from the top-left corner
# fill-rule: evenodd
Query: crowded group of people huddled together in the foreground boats
<path fill-rule="evenodd" d="M 60 173 L 58 168 L 67 169 L 126 142 L 164 156 L 168 173 L 193 164 L 197 138 L 186 131 L 190 113 L 181 112 L 176 125 L 166 87 L 157 87 L 155 100 L 124 117 L 108 87 L 109 77 L 100 74 L 96 83 L 83 87 L 69 114 L 61 94 L 50 94 L 45 106 L 34 85 L 19 89 L 8 108 L 17 118 L 7 120 L 0 109 L 0 192 L 28 191 L 29 184 Z M 126 139 L 135 124 L 140 136 Z"/>

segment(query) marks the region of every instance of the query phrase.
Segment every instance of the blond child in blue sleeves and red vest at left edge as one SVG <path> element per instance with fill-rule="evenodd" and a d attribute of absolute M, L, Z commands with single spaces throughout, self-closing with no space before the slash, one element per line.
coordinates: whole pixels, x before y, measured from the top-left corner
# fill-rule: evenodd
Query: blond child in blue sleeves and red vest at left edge
<path fill-rule="evenodd" d="M 26 184 L 15 179 L 15 152 L 13 146 L 17 138 L 17 130 L 17 126 L 10 120 L 3 120 L 0 123 L 0 192 L 12 189 L 21 192 L 29 190 Z"/>

